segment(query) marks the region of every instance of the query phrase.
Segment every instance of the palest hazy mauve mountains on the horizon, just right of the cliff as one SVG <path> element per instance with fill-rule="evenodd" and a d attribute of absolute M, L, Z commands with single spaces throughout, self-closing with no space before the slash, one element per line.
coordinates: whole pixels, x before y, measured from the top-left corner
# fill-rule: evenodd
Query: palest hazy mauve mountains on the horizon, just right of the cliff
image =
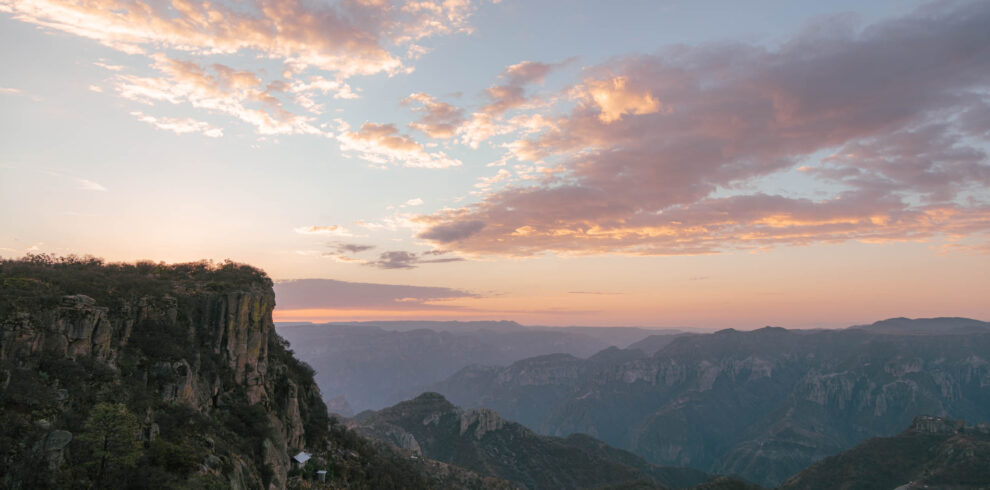
<path fill-rule="evenodd" d="M 471 364 L 502 366 L 550 353 L 587 357 L 662 332 L 515 322 L 289 324 L 276 329 L 313 366 L 325 401 L 341 415 L 411 398 Z"/>

